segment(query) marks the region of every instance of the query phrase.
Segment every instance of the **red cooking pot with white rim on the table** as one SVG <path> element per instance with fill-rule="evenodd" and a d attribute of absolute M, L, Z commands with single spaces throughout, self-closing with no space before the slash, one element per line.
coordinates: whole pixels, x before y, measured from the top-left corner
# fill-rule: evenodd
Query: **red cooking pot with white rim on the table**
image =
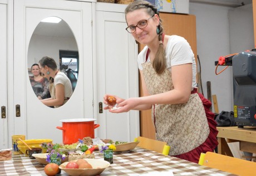
<path fill-rule="evenodd" d="M 84 137 L 94 138 L 94 129 L 99 127 L 99 124 L 94 124 L 94 118 L 73 118 L 60 120 L 62 127 L 56 127 L 62 130 L 63 144 L 73 144 L 78 139 Z"/>

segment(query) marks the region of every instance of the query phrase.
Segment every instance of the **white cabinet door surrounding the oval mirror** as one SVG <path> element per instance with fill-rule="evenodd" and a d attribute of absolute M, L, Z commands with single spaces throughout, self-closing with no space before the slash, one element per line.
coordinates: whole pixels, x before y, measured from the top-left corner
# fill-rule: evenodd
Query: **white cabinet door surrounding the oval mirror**
<path fill-rule="evenodd" d="M 35 96 L 28 75 L 31 67 L 29 53 L 41 53 L 34 59 L 34 63 L 42 56 L 52 56 L 58 65 L 59 50 L 73 50 L 73 40 L 63 42 L 62 30 L 48 30 L 43 24 L 39 31 L 46 37 L 33 42 L 29 46 L 34 31 L 42 19 L 58 17 L 65 21 L 75 38 L 79 53 L 79 73 L 76 89 L 68 102 L 59 108 L 43 105 Z M 93 82 L 92 82 L 92 2 L 61 1 L 61 0 L 14 0 L 14 82 L 13 82 L 13 110 L 20 106 L 20 117 L 14 113 L 15 134 L 26 134 L 27 139 L 51 138 L 55 143 L 62 142 L 62 126 L 60 120 L 68 118 L 93 118 Z M 48 31 L 47 31 L 48 30 Z M 49 37 L 51 33 L 54 36 Z M 68 37 L 68 36 L 66 36 Z M 33 50 L 37 45 L 50 38 L 48 45 Z M 49 41 L 49 39 L 47 40 Z M 56 46 L 62 41 L 61 46 Z M 49 51 L 51 49 L 51 51 Z M 52 51 L 54 49 L 55 51 Z M 31 51 L 32 50 L 32 51 Z"/>

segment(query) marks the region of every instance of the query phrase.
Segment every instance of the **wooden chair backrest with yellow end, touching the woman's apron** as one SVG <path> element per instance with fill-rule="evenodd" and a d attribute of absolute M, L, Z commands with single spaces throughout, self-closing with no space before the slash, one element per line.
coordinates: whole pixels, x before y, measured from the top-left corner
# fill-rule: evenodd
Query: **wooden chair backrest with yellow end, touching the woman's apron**
<path fill-rule="evenodd" d="M 137 145 L 138 147 L 146 148 L 149 149 L 150 151 L 155 151 L 158 153 L 162 153 L 164 155 L 168 155 L 170 151 L 170 146 L 168 146 L 166 142 L 156 141 L 154 139 L 141 136 L 135 138 L 134 141 L 140 142 Z"/>

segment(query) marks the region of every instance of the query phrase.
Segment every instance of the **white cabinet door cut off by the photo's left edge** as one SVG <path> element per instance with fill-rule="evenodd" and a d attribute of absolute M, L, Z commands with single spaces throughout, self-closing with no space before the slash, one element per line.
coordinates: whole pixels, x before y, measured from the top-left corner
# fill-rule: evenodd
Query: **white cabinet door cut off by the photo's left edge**
<path fill-rule="evenodd" d="M 0 149 L 8 148 L 7 118 L 7 2 L 0 0 Z M 6 114 L 4 115 L 4 108 Z"/>

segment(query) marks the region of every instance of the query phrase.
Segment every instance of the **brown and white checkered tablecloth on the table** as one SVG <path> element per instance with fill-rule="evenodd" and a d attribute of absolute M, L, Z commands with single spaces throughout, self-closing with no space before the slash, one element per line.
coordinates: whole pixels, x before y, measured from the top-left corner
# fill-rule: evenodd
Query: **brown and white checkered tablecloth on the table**
<path fill-rule="evenodd" d="M 95 159 L 103 160 L 103 154 L 95 152 Z M 44 167 L 45 165 L 38 163 L 36 159 L 29 159 L 24 154 L 13 155 L 11 160 L 0 162 L 0 175 L 46 175 Z M 171 175 L 171 173 L 174 175 L 234 175 L 139 147 L 132 151 L 115 152 L 114 163 L 101 174 Z M 67 173 L 62 170 L 61 175 L 67 175 Z"/>

